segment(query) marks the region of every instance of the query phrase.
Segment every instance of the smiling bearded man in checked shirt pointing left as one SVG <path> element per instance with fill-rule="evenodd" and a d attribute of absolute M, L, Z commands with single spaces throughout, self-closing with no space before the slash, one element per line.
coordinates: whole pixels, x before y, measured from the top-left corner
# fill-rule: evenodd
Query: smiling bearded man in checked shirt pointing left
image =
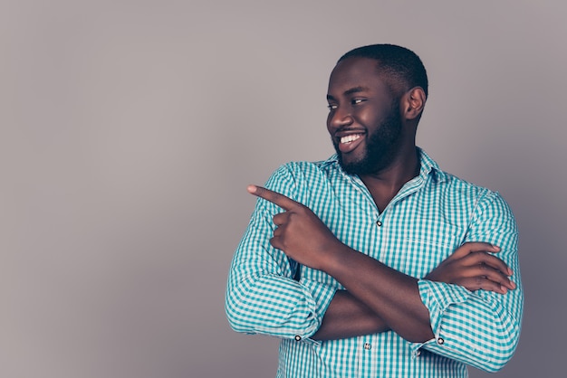
<path fill-rule="evenodd" d="M 464 377 L 514 354 L 514 216 L 416 146 L 427 96 L 408 49 L 347 52 L 327 94 L 336 155 L 248 187 L 259 200 L 226 314 L 236 331 L 282 339 L 278 377 Z"/>

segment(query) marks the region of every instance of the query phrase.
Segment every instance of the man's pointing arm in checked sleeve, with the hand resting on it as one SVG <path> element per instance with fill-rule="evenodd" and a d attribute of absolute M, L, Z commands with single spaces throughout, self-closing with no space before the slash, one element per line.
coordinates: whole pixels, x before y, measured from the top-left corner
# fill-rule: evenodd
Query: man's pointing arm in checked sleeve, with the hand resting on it
<path fill-rule="evenodd" d="M 487 194 L 478 201 L 467 234 L 469 241 L 492 244 L 466 243 L 452 256 L 465 254 L 468 262 L 472 256 L 476 263 L 462 267 L 455 281 L 434 281 L 409 277 L 352 250 L 310 209 L 283 194 L 255 185 L 248 191 L 284 210 L 274 215 L 276 229 L 270 240 L 274 248 L 337 279 L 380 317 L 384 326 L 413 342 L 415 352 L 423 347 L 486 371 L 502 368 L 511 358 L 519 335 L 523 296 L 514 217 L 497 194 Z M 485 247 L 476 250 L 482 244 Z M 502 244 L 502 248 L 495 249 L 493 244 Z M 495 252 L 502 260 L 492 256 Z M 494 259 L 500 263 L 495 264 Z M 514 270 L 516 285 L 506 277 L 506 266 Z M 452 272 L 454 268 L 442 263 L 436 270 Z M 459 284 L 467 275 L 478 282 Z"/>

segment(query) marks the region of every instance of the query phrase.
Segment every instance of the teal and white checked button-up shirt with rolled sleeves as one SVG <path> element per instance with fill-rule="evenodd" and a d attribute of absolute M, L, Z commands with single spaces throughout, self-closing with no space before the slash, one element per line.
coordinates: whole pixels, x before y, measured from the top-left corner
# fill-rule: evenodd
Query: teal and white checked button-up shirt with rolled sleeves
<path fill-rule="evenodd" d="M 354 250 L 420 279 L 435 335 L 423 344 L 392 331 L 311 339 L 341 284 L 270 245 L 272 217 L 282 210 L 259 199 L 230 269 L 226 314 L 238 332 L 282 339 L 278 377 L 466 377 L 466 364 L 494 372 L 514 354 L 524 302 L 514 216 L 499 194 L 442 172 L 419 153 L 419 175 L 382 213 L 336 156 L 283 165 L 268 180 L 267 188 L 309 207 Z M 500 246 L 497 257 L 514 270 L 517 288 L 502 295 L 421 279 L 466 241 Z"/>

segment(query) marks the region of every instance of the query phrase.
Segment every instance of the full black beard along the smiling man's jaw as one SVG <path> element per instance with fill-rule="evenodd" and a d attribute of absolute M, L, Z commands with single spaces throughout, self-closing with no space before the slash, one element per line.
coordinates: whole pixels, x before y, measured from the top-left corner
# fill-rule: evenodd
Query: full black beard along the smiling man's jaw
<path fill-rule="evenodd" d="M 360 160 L 345 163 L 338 143 L 333 140 L 333 146 L 339 156 L 339 164 L 344 172 L 349 175 L 373 175 L 387 168 L 399 148 L 401 139 L 401 116 L 399 115 L 399 103 L 394 104 L 389 111 L 380 128 L 377 128 L 368 138 L 366 154 Z"/>

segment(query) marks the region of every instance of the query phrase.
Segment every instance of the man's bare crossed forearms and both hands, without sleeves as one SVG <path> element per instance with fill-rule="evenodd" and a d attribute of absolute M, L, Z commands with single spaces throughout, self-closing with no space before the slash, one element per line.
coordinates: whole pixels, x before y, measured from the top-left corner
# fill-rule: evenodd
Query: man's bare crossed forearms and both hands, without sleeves
<path fill-rule="evenodd" d="M 284 210 L 274 216 L 277 228 L 270 241 L 274 248 L 300 264 L 328 273 L 346 288 L 332 298 L 312 338 L 345 338 L 389 329 L 410 342 L 423 343 L 433 338 L 418 279 L 352 250 L 303 204 L 259 186 L 251 185 L 248 191 Z M 515 284 L 509 279 L 512 270 L 495 257 L 498 251 L 489 243 L 466 243 L 426 279 L 471 291 L 482 288 L 505 294 Z"/>

